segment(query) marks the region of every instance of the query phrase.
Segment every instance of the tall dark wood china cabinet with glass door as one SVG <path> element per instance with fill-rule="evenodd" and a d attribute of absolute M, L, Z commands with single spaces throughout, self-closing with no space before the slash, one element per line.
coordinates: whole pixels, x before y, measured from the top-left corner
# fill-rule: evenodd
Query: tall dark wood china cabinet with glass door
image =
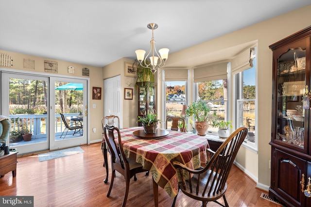
<path fill-rule="evenodd" d="M 311 206 L 311 26 L 269 46 L 273 51 L 271 186 L 286 206 Z"/>

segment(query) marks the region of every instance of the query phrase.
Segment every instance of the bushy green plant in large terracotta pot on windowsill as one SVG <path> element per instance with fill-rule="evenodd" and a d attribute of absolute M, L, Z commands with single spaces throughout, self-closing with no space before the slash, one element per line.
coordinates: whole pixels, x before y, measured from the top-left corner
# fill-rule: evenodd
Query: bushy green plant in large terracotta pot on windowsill
<path fill-rule="evenodd" d="M 187 116 L 192 116 L 195 120 L 195 128 L 198 135 L 205 136 L 208 129 L 208 122 L 212 122 L 215 113 L 210 113 L 207 102 L 199 100 L 192 102 L 185 111 Z"/>

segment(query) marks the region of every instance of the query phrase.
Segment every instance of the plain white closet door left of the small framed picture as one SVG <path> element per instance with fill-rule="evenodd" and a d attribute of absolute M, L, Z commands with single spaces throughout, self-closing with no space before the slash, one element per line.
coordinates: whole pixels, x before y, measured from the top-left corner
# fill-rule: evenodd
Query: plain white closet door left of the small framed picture
<path fill-rule="evenodd" d="M 122 128 L 121 76 L 104 80 L 104 116 L 109 115 L 119 116 Z"/>

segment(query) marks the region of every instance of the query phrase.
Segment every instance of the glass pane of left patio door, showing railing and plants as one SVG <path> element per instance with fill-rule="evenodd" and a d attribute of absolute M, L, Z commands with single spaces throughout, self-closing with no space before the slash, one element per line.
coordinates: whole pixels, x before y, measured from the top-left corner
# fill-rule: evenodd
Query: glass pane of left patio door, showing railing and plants
<path fill-rule="evenodd" d="M 47 82 L 9 78 L 9 113 L 10 148 L 47 142 Z"/>

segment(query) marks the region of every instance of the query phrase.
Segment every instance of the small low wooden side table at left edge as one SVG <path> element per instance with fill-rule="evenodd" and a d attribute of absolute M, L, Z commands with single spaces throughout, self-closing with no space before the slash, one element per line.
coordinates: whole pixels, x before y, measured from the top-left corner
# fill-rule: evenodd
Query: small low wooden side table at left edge
<path fill-rule="evenodd" d="M 0 156 L 0 177 L 12 171 L 13 177 L 16 176 L 17 152 Z"/>

